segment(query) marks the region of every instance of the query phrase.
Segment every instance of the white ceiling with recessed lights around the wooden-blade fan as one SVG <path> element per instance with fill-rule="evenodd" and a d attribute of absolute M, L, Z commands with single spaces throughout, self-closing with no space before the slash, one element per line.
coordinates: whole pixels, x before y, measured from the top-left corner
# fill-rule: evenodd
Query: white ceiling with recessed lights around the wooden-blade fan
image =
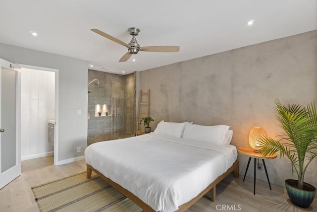
<path fill-rule="evenodd" d="M 140 29 L 140 46 L 180 51 L 139 52 L 119 63 L 127 48 L 90 31 L 129 43 L 129 27 Z M 119 74 L 316 29 L 317 0 L 0 0 L 0 43 L 87 60 L 90 69 Z"/>

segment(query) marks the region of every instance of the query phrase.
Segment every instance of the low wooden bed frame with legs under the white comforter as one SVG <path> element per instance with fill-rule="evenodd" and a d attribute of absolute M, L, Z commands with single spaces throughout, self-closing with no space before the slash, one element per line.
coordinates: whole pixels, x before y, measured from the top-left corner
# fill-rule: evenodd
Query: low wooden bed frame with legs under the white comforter
<path fill-rule="evenodd" d="M 119 184 L 113 182 L 106 176 L 104 176 L 102 173 L 100 173 L 98 170 L 94 169 L 91 165 L 87 163 L 87 179 L 91 178 L 92 171 L 94 171 L 96 174 L 98 174 L 100 177 L 102 177 L 106 182 L 108 182 L 111 186 L 113 186 L 118 192 L 129 198 L 132 202 L 137 204 L 139 207 L 141 207 L 145 212 L 156 212 L 153 210 L 149 205 L 144 203 L 142 200 L 140 200 L 137 196 L 120 186 Z M 178 207 L 177 212 L 184 212 L 186 209 L 194 205 L 201 197 L 203 197 L 207 192 L 211 191 L 211 201 L 214 202 L 215 197 L 216 197 L 216 185 L 223 179 L 225 178 L 228 174 L 231 172 L 234 172 L 235 177 L 239 177 L 239 161 L 236 160 L 232 166 L 222 175 L 217 177 L 207 188 L 202 191 L 199 195 L 194 197 L 191 201 L 184 203 L 183 205 Z"/>

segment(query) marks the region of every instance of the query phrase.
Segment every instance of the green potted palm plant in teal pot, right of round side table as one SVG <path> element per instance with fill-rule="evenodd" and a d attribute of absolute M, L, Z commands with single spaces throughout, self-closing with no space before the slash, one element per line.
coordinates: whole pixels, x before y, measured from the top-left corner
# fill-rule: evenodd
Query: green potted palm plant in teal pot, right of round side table
<path fill-rule="evenodd" d="M 280 151 L 280 157 L 286 156 L 291 161 L 292 173 L 298 180 L 285 180 L 285 187 L 290 201 L 300 208 L 309 208 L 316 188 L 304 182 L 307 167 L 317 156 L 317 112 L 315 103 L 307 106 L 299 104 L 282 106 L 275 100 L 276 118 L 285 131 L 278 139 L 262 137 L 260 141 L 262 155 Z"/>

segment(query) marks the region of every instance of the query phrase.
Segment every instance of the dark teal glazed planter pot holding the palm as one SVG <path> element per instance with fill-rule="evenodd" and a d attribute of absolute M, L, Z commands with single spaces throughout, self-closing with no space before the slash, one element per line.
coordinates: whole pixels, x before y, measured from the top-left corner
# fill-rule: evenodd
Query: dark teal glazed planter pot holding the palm
<path fill-rule="evenodd" d="M 285 180 L 285 187 L 290 201 L 303 209 L 310 207 L 316 195 L 316 188 L 304 183 L 304 190 L 297 188 L 298 180 Z"/>

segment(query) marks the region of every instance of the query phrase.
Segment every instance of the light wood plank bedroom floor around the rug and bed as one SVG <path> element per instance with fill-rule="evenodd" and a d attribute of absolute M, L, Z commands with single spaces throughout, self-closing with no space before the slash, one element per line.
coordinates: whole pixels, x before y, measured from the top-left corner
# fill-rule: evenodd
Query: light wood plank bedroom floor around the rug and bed
<path fill-rule="evenodd" d="M 85 170 L 85 160 L 80 160 L 60 166 L 50 165 L 25 171 L 0 190 L 0 212 L 39 212 L 31 186 Z M 270 191 L 267 182 L 257 180 L 256 195 L 253 195 L 253 179 L 247 177 L 245 182 L 242 180 L 243 176 L 235 178 L 230 174 L 217 185 L 214 203 L 203 197 L 187 212 L 303 212 L 286 202 L 288 197 L 283 187 L 272 185 Z M 312 207 L 316 212 L 316 199 Z"/>

